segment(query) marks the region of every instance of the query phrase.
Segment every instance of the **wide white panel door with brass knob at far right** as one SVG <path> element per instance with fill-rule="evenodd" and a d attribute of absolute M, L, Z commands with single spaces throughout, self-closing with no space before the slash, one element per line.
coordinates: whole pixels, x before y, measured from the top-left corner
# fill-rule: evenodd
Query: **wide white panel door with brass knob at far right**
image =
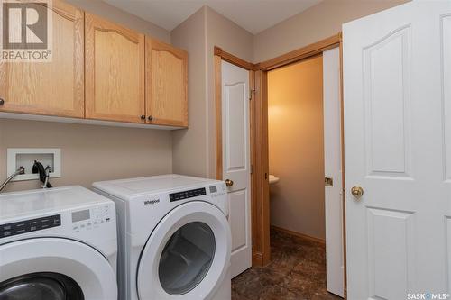
<path fill-rule="evenodd" d="M 451 1 L 343 34 L 348 299 L 446 299 L 434 294 L 451 292 Z"/>

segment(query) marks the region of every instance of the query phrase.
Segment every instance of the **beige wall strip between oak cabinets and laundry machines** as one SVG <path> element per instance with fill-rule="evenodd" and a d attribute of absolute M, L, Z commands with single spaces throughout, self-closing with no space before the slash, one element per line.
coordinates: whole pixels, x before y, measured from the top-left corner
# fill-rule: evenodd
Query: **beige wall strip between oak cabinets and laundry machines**
<path fill-rule="evenodd" d="M 81 185 L 172 171 L 170 132 L 150 129 L 0 120 L 0 181 L 7 148 L 60 148 L 62 176 L 53 186 Z M 39 188 L 37 180 L 14 182 L 5 191 Z"/>

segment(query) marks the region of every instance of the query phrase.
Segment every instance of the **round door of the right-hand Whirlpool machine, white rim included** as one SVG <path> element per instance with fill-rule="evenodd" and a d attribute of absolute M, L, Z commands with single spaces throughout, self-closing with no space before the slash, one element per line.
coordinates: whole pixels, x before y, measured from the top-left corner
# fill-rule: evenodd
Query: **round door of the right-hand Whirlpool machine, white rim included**
<path fill-rule="evenodd" d="M 226 278 L 231 233 L 215 206 L 179 205 L 155 227 L 138 267 L 140 299 L 205 299 Z"/>

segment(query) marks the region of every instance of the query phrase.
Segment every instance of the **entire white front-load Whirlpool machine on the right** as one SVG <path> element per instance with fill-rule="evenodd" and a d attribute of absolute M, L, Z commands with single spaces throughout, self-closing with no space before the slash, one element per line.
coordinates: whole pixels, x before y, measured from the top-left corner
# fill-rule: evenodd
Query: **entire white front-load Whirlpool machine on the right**
<path fill-rule="evenodd" d="M 226 185 L 179 175 L 94 184 L 119 223 L 123 300 L 230 300 Z"/>

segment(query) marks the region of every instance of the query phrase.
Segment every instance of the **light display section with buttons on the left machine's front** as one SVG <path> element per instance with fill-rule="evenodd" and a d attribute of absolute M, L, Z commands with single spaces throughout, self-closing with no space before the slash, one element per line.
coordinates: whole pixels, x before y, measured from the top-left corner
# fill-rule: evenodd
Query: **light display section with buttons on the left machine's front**
<path fill-rule="evenodd" d="M 110 206 L 104 205 L 80 211 L 73 211 L 71 213 L 72 232 L 93 230 L 103 223 L 111 222 L 109 210 Z"/>

